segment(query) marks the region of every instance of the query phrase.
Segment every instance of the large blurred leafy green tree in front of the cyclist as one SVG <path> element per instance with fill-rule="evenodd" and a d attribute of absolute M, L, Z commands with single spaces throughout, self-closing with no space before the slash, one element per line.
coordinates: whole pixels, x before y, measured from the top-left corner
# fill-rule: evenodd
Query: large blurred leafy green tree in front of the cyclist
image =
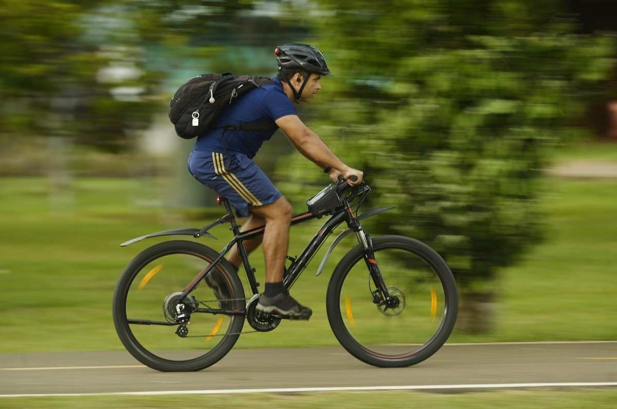
<path fill-rule="evenodd" d="M 315 3 L 307 20 L 336 75 L 318 133 L 365 171 L 374 202 L 397 206 L 371 230 L 434 246 L 460 286 L 460 328 L 489 330 L 497 270 L 539 238 L 549 151 L 576 132 L 615 42 L 572 34 L 557 0 Z M 284 172 L 319 177 L 299 155 Z"/>

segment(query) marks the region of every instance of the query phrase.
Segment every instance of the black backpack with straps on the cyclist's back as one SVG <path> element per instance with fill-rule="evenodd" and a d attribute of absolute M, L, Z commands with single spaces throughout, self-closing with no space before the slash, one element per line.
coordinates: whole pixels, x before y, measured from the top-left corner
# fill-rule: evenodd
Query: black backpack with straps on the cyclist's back
<path fill-rule="evenodd" d="M 189 79 L 173 94 L 169 104 L 169 119 L 176 134 L 192 139 L 205 134 L 234 99 L 257 87 L 276 84 L 268 77 L 234 76 L 232 73 L 202 74 Z M 271 121 L 246 124 L 225 124 L 217 128 L 242 131 L 274 131 Z"/>

